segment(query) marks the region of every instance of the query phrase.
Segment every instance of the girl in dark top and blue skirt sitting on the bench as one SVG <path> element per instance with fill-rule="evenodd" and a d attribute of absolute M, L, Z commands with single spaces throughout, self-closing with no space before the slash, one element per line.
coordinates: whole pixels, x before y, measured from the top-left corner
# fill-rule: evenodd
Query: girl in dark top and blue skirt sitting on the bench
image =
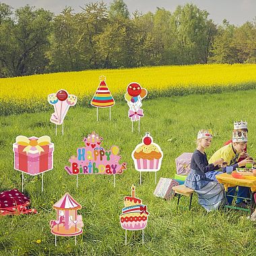
<path fill-rule="evenodd" d="M 219 158 L 212 164 L 207 161 L 205 149 L 212 143 L 212 134 L 210 131 L 201 130 L 197 135 L 197 149 L 193 152 L 191 158 L 191 170 L 185 186 L 194 189 L 198 195 L 198 202 L 207 212 L 216 210 L 224 203 L 224 187 L 217 181 L 208 179 L 206 172 L 218 169 L 218 164 L 222 164 L 223 159 Z"/>

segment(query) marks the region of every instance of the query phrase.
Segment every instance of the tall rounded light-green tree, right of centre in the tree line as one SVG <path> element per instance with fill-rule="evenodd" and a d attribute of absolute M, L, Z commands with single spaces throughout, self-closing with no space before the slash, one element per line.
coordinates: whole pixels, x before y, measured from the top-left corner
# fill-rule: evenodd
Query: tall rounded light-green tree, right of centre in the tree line
<path fill-rule="evenodd" d="M 177 64 L 207 63 L 212 40 L 216 33 L 207 11 L 193 4 L 178 6 L 172 14 L 174 51 L 178 53 Z"/>

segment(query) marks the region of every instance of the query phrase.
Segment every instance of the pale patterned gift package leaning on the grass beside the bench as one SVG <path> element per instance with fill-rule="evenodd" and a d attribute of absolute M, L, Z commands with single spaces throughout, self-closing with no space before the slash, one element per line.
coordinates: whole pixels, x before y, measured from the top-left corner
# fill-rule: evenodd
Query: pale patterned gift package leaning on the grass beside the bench
<path fill-rule="evenodd" d="M 174 191 L 172 190 L 172 187 L 178 185 L 179 183 L 174 179 L 160 178 L 158 185 L 156 186 L 156 189 L 154 191 L 154 195 L 156 195 L 156 197 L 170 200 L 174 196 Z"/>

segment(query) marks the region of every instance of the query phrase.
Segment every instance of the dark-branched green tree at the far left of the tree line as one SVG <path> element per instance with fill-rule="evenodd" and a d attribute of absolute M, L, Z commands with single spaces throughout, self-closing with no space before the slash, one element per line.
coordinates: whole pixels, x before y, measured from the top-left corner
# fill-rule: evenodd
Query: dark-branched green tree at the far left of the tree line
<path fill-rule="evenodd" d="M 31 75 L 46 71 L 48 60 L 44 53 L 49 47 L 53 14 L 26 5 L 15 11 L 15 21 L 1 26 L 7 51 L 3 51 L 9 76 Z M 6 47 L 5 47 L 6 50 Z M 6 72 L 5 72 L 6 73 Z"/>

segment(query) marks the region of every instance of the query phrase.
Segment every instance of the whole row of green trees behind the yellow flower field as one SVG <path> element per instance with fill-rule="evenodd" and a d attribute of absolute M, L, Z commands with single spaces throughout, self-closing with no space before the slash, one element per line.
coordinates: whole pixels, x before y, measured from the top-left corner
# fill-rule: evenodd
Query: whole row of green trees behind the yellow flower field
<path fill-rule="evenodd" d="M 0 3 L 0 77 L 199 63 L 256 63 L 256 20 L 219 26 L 196 5 L 130 15 L 123 0 L 59 15 Z"/>

